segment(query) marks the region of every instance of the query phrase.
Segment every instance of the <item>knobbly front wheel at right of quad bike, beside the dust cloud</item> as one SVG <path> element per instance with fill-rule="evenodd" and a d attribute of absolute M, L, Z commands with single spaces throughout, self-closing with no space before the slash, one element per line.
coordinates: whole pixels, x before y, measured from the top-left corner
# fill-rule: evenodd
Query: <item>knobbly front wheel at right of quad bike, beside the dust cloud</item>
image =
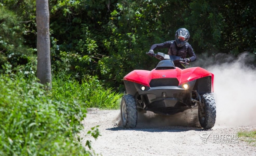
<path fill-rule="evenodd" d="M 202 103 L 198 105 L 199 122 L 202 128 L 210 129 L 216 120 L 216 104 L 212 95 L 204 94 L 201 98 Z"/>

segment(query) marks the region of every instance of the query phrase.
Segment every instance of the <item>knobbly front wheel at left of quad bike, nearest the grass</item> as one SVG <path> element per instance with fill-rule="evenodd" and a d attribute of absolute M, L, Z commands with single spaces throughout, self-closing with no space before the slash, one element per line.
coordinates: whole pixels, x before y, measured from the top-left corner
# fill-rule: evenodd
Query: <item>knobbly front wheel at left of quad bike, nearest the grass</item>
<path fill-rule="evenodd" d="M 135 128 L 138 119 L 137 105 L 132 95 L 124 95 L 120 105 L 124 128 Z"/>

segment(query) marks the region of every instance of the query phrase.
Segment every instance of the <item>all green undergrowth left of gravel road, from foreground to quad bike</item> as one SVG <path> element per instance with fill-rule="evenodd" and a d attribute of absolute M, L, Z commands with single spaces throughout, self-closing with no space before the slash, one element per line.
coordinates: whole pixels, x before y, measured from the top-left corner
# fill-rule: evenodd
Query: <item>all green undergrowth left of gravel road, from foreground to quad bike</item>
<path fill-rule="evenodd" d="M 119 108 L 122 94 L 104 88 L 97 77 L 82 81 L 54 75 L 52 90 L 44 90 L 34 74 L 0 74 L 0 156 L 89 156 L 78 137 L 86 108 Z M 85 118 L 86 120 L 86 118 Z M 98 126 L 86 136 L 98 138 Z M 93 148 L 90 140 L 85 146 Z"/>

